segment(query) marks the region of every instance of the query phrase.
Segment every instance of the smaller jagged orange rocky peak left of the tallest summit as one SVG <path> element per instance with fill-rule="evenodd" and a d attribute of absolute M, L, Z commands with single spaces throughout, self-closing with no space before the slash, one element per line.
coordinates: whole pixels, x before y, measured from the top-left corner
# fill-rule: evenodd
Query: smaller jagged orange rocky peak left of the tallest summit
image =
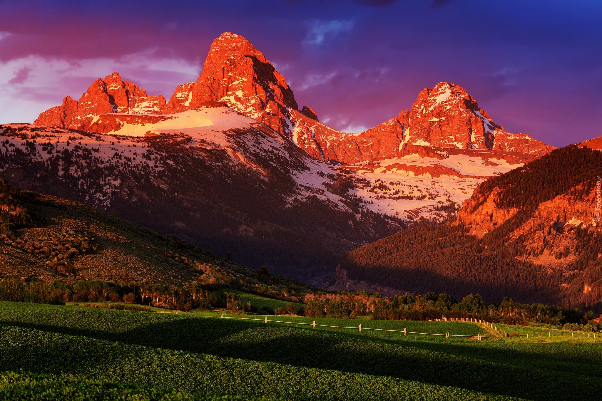
<path fill-rule="evenodd" d="M 67 96 L 63 105 L 42 112 L 34 123 L 87 130 L 95 117 L 101 114 L 162 114 L 165 109 L 166 99 L 163 96 L 149 96 L 143 88 L 123 81 L 119 73 L 114 72 L 104 79 L 96 79 L 79 102 Z"/>

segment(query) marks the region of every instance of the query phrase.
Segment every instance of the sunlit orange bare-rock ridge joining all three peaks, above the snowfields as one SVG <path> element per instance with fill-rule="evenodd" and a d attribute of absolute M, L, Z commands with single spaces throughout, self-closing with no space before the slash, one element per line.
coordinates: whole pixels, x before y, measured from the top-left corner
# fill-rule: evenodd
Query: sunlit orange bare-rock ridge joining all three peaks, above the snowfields
<path fill-rule="evenodd" d="M 88 100 L 93 96 L 98 97 L 95 107 Z M 97 79 L 79 103 L 66 97 L 62 106 L 43 112 L 34 123 L 103 133 L 90 127 L 90 117 L 84 115 L 172 114 L 204 102 L 225 102 L 322 161 L 350 164 L 391 158 L 408 144 L 536 155 L 554 148 L 524 133 L 506 132 L 464 88 L 450 82 L 424 88 L 410 109 L 376 127 L 359 134 L 340 132 L 320 123 L 309 106 L 299 111 L 284 76 L 246 38 L 231 32 L 213 41 L 197 81 L 179 85 L 167 103 L 163 96 L 148 96 L 131 82 L 121 81 L 115 72 L 104 80 Z"/>

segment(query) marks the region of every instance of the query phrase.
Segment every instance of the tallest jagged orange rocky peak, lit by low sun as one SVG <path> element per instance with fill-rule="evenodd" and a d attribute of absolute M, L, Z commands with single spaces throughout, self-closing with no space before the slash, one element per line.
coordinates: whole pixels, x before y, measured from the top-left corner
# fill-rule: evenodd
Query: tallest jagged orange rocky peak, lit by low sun
<path fill-rule="evenodd" d="M 293 91 L 265 55 L 246 38 L 224 32 L 211 43 L 197 82 L 180 85 L 169 100 L 169 112 L 222 101 L 238 112 L 267 124 L 284 136 L 293 127 L 289 109 L 297 109 Z"/>

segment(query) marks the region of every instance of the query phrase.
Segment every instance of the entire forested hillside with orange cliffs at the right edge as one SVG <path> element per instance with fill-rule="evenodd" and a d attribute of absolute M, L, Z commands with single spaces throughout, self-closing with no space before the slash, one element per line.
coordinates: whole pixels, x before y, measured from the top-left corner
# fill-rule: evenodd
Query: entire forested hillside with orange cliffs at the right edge
<path fill-rule="evenodd" d="M 486 302 L 509 296 L 599 313 L 602 236 L 594 192 L 600 171 L 597 150 L 554 150 L 486 180 L 454 224 L 400 231 L 351 251 L 337 277 L 400 293 L 480 293 Z"/>

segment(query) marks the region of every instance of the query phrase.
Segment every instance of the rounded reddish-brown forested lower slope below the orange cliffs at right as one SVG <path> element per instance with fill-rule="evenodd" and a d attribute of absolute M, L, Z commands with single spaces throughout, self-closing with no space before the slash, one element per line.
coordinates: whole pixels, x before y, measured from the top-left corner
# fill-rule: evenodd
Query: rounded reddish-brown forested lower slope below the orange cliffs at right
<path fill-rule="evenodd" d="M 519 302 L 554 302 L 557 277 L 531 263 L 487 249 L 483 240 L 450 224 L 400 231 L 355 249 L 341 259 L 348 277 L 399 289 L 447 292 L 462 299 L 479 293 L 487 302 L 512 296 Z"/>

